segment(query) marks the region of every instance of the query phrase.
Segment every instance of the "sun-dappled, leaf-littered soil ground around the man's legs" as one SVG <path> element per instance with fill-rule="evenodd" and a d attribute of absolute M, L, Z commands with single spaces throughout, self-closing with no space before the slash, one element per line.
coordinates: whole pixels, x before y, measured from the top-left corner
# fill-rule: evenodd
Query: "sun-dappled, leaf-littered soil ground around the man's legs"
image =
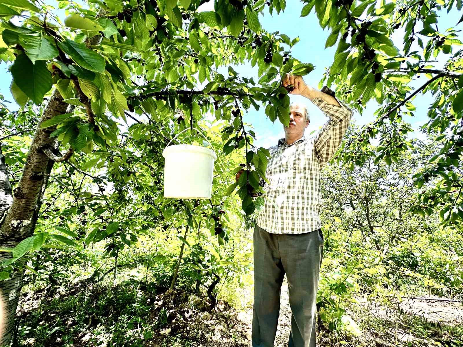
<path fill-rule="evenodd" d="M 112 291 L 118 293 L 127 290 L 126 287 L 127 285 L 125 288 L 116 286 Z M 19 346 L 69 346 L 64 340 L 70 339 L 71 346 L 76 347 L 115 346 L 114 335 L 108 331 L 111 330 L 111 322 L 118 322 L 124 315 L 124 308 L 115 306 L 109 300 L 107 304 L 102 304 L 96 314 L 86 312 L 91 310 L 101 297 L 106 295 L 107 298 L 107 291 L 107 287 L 77 283 L 74 286 L 23 293 L 17 311 L 19 326 L 38 329 L 45 326 L 53 327 L 52 324 L 61 322 L 62 328 L 51 329 L 50 334 L 41 341 L 37 340 L 37 333 L 30 330 L 19 339 Z M 153 294 L 144 291 L 143 285 L 135 285 L 134 291 L 142 292 L 148 308 L 143 322 L 154 328 L 148 336 L 144 333 L 142 325 L 134 326 L 130 333 L 138 342 L 127 346 L 251 347 L 252 307 L 238 311 L 219 302 L 214 312 L 210 310 L 212 304 L 206 297 L 189 295 L 184 291 Z M 246 295 L 252 296 L 252 293 Z M 139 296 L 137 300 L 140 300 Z M 56 302 L 67 303 L 63 307 L 68 309 L 57 310 L 57 305 L 60 306 Z M 352 336 L 319 329 L 319 346 L 463 346 L 461 303 L 404 299 L 400 303 L 396 302 L 395 306 L 385 307 L 361 297 L 358 298 L 358 302 L 359 304 L 350 307 L 347 313 L 359 323 L 361 334 Z M 86 303 L 90 304 L 83 308 L 81 305 Z M 80 307 L 72 307 L 71 304 Z M 133 304 L 127 301 L 126 305 L 128 307 Z M 161 316 L 165 316 L 165 320 L 158 324 Z M 285 279 L 282 285 L 275 347 L 287 346 L 290 329 L 291 309 Z"/>

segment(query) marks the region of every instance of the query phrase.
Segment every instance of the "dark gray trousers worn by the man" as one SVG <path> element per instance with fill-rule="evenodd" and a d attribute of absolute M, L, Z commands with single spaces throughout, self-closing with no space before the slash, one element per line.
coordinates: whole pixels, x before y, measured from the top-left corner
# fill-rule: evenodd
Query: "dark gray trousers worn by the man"
<path fill-rule="evenodd" d="M 292 312 L 288 347 L 315 347 L 316 298 L 322 257 L 321 229 L 278 235 L 256 224 L 252 347 L 274 347 L 285 273 Z"/>

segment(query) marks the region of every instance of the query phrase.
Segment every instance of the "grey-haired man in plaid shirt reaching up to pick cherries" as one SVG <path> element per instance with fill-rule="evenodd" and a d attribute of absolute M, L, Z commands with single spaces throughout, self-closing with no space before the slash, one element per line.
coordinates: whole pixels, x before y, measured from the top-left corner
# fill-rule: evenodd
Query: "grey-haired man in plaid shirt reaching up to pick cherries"
<path fill-rule="evenodd" d="M 288 280 L 291 333 L 288 347 L 315 347 L 316 297 L 323 255 L 319 212 L 320 169 L 332 158 L 347 130 L 352 110 L 328 87 L 318 91 L 301 76 L 285 75 L 282 85 L 311 100 L 329 118 L 306 138 L 307 107 L 290 106 L 285 138 L 269 148 L 264 190 L 268 199 L 254 229 L 254 310 L 252 346 L 273 347 L 283 277 Z M 239 177 L 239 174 L 237 174 Z"/>

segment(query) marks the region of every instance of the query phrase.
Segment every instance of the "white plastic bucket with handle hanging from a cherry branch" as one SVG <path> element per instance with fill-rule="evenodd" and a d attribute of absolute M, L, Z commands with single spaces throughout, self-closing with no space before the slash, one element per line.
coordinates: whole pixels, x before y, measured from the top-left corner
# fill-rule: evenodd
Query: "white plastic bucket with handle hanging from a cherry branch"
<path fill-rule="evenodd" d="M 203 135 L 201 132 L 200 134 Z M 201 146 L 190 144 L 169 146 L 169 143 L 163 151 L 164 198 L 211 198 L 214 161 L 217 159 L 215 152 Z"/>

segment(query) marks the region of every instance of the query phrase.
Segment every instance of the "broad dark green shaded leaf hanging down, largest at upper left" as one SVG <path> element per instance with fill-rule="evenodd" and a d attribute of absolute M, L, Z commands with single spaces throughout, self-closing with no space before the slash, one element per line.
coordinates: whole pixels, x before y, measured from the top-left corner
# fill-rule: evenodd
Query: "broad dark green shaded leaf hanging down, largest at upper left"
<path fill-rule="evenodd" d="M 32 64 L 25 54 L 20 54 L 16 57 L 10 71 L 13 75 L 13 81 L 19 89 L 36 105 L 40 105 L 52 84 L 51 74 L 46 63 L 37 61 L 36 64 Z"/>

